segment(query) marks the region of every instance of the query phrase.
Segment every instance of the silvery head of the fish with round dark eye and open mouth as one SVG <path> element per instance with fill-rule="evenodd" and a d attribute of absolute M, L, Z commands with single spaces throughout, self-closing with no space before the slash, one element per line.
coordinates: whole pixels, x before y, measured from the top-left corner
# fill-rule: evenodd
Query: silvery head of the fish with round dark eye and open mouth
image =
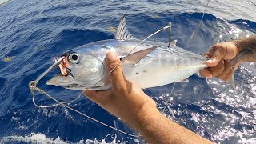
<path fill-rule="evenodd" d="M 58 64 L 60 74 L 51 78 L 46 83 L 47 85 L 85 90 L 95 86 L 104 77 L 104 58 L 99 57 L 93 51 L 70 50 L 58 58 L 63 58 L 62 62 Z M 55 61 L 58 58 L 54 58 Z"/>

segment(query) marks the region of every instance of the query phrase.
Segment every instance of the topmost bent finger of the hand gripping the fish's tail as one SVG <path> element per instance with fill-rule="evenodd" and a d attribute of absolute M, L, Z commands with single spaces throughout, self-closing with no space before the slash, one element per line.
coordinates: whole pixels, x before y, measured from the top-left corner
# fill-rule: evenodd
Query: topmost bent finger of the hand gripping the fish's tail
<path fill-rule="evenodd" d="M 206 52 L 206 57 L 210 58 L 210 60 L 206 62 L 206 65 L 210 67 L 217 66 L 218 62 L 224 58 L 225 54 L 226 49 L 222 46 L 215 45 L 211 47 L 210 50 Z"/>

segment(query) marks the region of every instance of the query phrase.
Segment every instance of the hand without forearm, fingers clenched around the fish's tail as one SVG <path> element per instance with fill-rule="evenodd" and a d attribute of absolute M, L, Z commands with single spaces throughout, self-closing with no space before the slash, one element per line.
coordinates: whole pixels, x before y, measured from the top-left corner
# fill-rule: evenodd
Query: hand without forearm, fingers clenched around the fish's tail
<path fill-rule="evenodd" d="M 206 52 L 206 57 L 210 58 L 206 62 L 209 66 L 200 71 L 200 74 L 206 78 L 219 78 L 227 81 L 231 78 L 234 70 L 236 70 L 242 59 L 233 67 L 230 60 L 233 59 L 239 52 L 238 46 L 234 42 L 221 42 L 210 48 Z"/>

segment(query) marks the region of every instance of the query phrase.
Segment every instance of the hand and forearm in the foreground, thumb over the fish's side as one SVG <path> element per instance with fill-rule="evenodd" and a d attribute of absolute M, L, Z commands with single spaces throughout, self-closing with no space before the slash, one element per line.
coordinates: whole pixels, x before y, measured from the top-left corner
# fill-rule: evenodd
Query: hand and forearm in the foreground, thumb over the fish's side
<path fill-rule="evenodd" d="M 113 52 L 106 54 L 105 62 L 107 70 L 115 68 L 110 73 L 112 87 L 105 91 L 84 91 L 90 100 L 138 130 L 146 142 L 210 143 L 162 115 L 153 99 L 140 87 L 126 80 L 122 73 L 122 66 L 118 65 L 120 60 L 116 54 Z M 115 67 L 116 65 L 118 66 Z"/>

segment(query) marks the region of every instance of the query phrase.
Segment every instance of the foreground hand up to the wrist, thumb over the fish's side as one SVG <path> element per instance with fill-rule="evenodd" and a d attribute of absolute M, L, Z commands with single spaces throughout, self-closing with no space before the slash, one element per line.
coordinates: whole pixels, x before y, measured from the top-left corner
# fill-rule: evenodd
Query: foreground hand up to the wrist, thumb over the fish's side
<path fill-rule="evenodd" d="M 156 104 L 140 87 L 126 80 L 117 54 L 110 51 L 106 54 L 105 62 L 108 71 L 118 65 L 110 73 L 111 89 L 102 91 L 86 90 L 84 94 L 91 101 L 136 129 L 146 110 L 156 110 Z"/>

